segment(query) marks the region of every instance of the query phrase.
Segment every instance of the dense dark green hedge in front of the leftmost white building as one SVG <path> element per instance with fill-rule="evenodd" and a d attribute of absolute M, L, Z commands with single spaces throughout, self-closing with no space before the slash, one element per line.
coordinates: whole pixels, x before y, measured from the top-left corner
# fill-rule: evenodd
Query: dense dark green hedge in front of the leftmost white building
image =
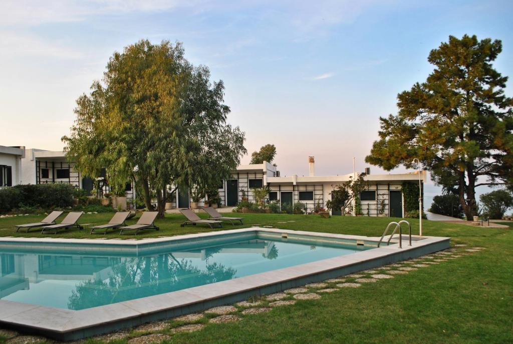
<path fill-rule="evenodd" d="M 21 207 L 70 207 L 73 205 L 74 190 L 69 184 L 29 184 L 4 188 L 0 190 L 0 212 Z"/>

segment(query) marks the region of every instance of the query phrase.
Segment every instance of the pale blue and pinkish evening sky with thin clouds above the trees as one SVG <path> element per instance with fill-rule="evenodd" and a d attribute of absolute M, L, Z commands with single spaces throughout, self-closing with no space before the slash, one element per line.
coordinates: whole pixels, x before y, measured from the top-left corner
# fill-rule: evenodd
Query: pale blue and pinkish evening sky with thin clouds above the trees
<path fill-rule="evenodd" d="M 306 175 L 309 155 L 318 175 L 352 172 L 353 157 L 363 171 L 379 116 L 426 79 L 429 51 L 449 35 L 501 39 L 494 66 L 513 74 L 512 11 L 493 0 L 2 0 L 0 145 L 62 150 L 76 98 L 114 51 L 146 38 L 183 42 L 223 80 L 249 155 L 276 145 L 282 175 Z"/>

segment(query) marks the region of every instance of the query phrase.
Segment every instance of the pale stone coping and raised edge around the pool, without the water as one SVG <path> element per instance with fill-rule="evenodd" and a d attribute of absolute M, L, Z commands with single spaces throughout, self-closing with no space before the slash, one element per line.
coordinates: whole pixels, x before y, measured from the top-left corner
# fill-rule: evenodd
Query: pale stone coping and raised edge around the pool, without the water
<path fill-rule="evenodd" d="M 379 237 L 360 235 L 251 227 L 227 231 L 177 235 L 166 238 L 147 238 L 136 241 L 4 237 L 0 238 L 0 242 L 68 242 L 100 245 L 102 245 L 102 243 L 110 245 L 145 245 L 172 240 L 254 231 L 350 240 L 379 240 Z M 58 340 L 80 339 L 124 327 L 141 325 L 147 321 L 180 316 L 214 306 L 234 303 L 255 294 L 262 295 L 279 292 L 309 282 L 321 281 L 361 270 L 377 268 L 385 264 L 391 264 L 392 262 L 449 248 L 450 238 L 432 236 L 423 236 L 422 238 L 421 240 L 412 240 L 411 246 L 408 246 L 407 240 L 403 239 L 402 249 L 399 248 L 399 244 L 391 244 L 385 247 L 317 260 L 307 264 L 84 310 L 74 311 L 0 300 L 0 326 L 41 333 Z"/>

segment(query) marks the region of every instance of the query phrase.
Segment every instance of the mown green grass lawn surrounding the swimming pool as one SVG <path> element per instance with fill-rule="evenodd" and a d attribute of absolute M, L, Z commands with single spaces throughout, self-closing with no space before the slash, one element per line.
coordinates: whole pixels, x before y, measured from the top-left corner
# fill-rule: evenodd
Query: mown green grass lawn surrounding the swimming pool
<path fill-rule="evenodd" d="M 81 223 L 100 224 L 112 214 L 84 215 Z M 228 214 L 232 215 L 232 214 Z M 233 214 L 235 216 L 235 214 Z M 244 214 L 244 226 L 273 227 L 380 236 L 391 220 L 376 217 Z M 15 233 L 13 225 L 41 220 L 43 216 L 0 219 L 0 236 L 40 237 L 39 231 Z M 209 231 L 208 227 L 181 228 L 182 215 L 157 220 L 160 231 L 137 237 L 170 236 Z M 285 223 L 280 223 L 284 222 Z M 288 222 L 294 221 L 294 222 Z M 129 221 L 129 224 L 135 220 Z M 418 233 L 418 220 L 411 220 Z M 513 228 L 512 228 L 513 229 Z M 198 332 L 172 334 L 172 343 L 506 343 L 513 342 L 513 231 L 423 221 L 424 235 L 449 236 L 459 249 L 483 251 L 443 261 L 394 278 L 343 288 L 317 300 L 301 300 L 265 314 L 243 316 L 241 321 L 212 324 Z M 45 234 L 45 237 L 54 236 Z M 73 230 L 58 237 L 90 238 Z M 93 237 L 119 237 L 119 232 Z M 123 236 L 129 238 L 133 236 Z M 240 312 L 238 313 L 240 315 Z M 169 330 L 161 331 L 171 335 Z M 0 342 L 6 341 L 0 337 Z M 88 342 L 97 342 L 88 339 Z M 116 343 L 124 343 L 121 339 Z"/>

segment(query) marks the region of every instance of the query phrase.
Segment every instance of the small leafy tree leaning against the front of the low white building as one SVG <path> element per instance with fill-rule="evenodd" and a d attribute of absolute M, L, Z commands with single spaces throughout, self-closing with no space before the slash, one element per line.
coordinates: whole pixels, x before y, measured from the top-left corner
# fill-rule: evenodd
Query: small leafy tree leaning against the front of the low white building
<path fill-rule="evenodd" d="M 351 176 L 349 180 L 333 188 L 333 191 L 330 192 L 331 199 L 326 201 L 326 208 L 328 210 L 340 209 L 342 210 L 342 215 L 344 215 L 346 208 L 352 209 L 353 200 L 360 197 L 360 192 L 366 188 L 367 182 L 365 181 L 365 174 L 359 174 L 356 179 L 353 179 Z M 361 212 L 361 210 L 359 212 Z"/>

